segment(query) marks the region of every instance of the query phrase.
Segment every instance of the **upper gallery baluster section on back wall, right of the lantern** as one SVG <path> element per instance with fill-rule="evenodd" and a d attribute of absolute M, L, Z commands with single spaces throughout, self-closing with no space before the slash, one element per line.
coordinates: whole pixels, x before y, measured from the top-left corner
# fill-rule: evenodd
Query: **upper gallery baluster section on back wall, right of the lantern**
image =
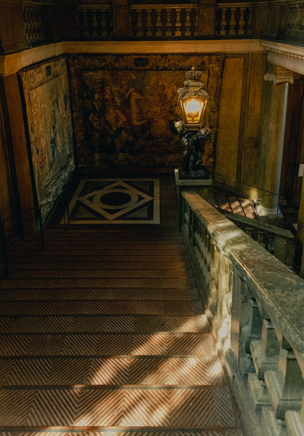
<path fill-rule="evenodd" d="M 252 4 L 218 3 L 215 10 L 215 35 L 250 35 Z"/>

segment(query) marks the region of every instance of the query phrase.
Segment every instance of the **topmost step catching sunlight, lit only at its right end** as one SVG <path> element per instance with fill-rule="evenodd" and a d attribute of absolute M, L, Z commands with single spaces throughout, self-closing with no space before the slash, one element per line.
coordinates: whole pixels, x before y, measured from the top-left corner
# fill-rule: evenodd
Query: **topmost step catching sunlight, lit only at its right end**
<path fill-rule="evenodd" d="M 19 315 L 0 318 L 0 334 L 208 332 L 206 315 Z"/>

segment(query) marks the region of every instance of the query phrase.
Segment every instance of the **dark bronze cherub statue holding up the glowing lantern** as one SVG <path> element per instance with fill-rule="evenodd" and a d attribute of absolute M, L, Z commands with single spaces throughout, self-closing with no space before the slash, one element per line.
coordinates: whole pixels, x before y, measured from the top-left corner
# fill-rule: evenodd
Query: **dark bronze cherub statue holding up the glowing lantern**
<path fill-rule="evenodd" d="M 180 166 L 180 178 L 208 179 L 209 171 L 202 167 L 204 142 L 211 138 L 211 130 L 201 127 L 198 130 L 188 130 L 183 121 L 176 121 L 174 126 L 181 138 L 183 147 L 183 162 Z"/>

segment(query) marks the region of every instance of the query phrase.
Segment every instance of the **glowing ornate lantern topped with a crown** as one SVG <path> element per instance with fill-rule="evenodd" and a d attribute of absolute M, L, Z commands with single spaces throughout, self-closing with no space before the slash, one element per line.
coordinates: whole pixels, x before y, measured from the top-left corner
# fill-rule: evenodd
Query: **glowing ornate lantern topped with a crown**
<path fill-rule="evenodd" d="M 184 87 L 177 91 L 183 109 L 185 127 L 188 130 L 200 129 L 204 122 L 208 94 L 204 84 L 200 82 L 201 75 L 200 71 L 192 67 L 191 71 L 185 74 L 187 80 L 184 82 Z"/>

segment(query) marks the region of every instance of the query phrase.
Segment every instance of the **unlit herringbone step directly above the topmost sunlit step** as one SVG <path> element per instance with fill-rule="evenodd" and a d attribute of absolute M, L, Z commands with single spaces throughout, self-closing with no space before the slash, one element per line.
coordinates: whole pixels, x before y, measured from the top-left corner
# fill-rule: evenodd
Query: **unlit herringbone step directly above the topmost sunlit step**
<path fill-rule="evenodd" d="M 0 315 L 152 315 L 203 313 L 200 300 L 4 300 Z"/>

